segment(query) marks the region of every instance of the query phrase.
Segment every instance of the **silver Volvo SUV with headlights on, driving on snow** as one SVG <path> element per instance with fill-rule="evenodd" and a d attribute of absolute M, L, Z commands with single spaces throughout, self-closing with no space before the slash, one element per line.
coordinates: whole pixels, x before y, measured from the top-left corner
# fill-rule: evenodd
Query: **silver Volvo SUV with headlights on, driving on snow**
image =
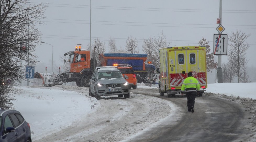
<path fill-rule="evenodd" d="M 109 95 L 130 98 L 129 83 L 125 80 L 128 76 L 124 77 L 117 67 L 96 67 L 89 82 L 89 95 L 97 100 Z"/>

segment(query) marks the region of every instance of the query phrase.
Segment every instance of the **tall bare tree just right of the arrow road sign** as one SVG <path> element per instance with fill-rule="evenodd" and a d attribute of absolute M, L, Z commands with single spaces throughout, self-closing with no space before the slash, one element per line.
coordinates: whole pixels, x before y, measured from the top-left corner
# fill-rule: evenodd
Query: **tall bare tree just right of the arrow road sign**
<path fill-rule="evenodd" d="M 241 30 L 236 32 L 232 31 L 232 34 L 229 35 L 229 46 L 231 52 L 234 56 L 232 56 L 232 60 L 235 63 L 234 71 L 238 78 L 238 82 L 240 82 L 241 77 L 241 68 L 246 65 L 246 50 L 249 48 L 249 45 L 244 43 L 244 41 L 251 36 L 251 34 L 246 35 L 245 33 L 241 33 Z"/>

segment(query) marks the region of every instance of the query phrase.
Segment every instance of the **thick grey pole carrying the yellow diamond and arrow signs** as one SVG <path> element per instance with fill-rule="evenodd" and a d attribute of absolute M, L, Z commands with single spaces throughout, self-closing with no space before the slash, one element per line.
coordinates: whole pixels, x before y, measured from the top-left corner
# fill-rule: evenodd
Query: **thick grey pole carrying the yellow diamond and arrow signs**
<path fill-rule="evenodd" d="M 219 25 L 221 25 L 221 22 L 222 22 L 222 0 L 220 0 L 219 18 L 220 18 Z M 219 32 L 219 34 L 221 34 L 221 33 Z M 217 79 L 218 79 L 218 83 L 223 83 L 222 68 L 221 68 L 221 55 L 218 55 Z"/>

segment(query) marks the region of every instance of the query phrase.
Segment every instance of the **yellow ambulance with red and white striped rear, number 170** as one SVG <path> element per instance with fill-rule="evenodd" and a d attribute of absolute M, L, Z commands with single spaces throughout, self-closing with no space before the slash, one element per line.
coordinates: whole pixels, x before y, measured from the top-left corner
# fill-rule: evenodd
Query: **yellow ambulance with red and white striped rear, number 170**
<path fill-rule="evenodd" d="M 207 70 L 205 46 L 181 46 L 159 49 L 160 68 L 159 93 L 167 93 L 168 97 L 175 97 L 181 93 L 183 80 L 192 72 L 193 77 L 200 83 L 198 96 L 202 96 L 207 88 Z"/>

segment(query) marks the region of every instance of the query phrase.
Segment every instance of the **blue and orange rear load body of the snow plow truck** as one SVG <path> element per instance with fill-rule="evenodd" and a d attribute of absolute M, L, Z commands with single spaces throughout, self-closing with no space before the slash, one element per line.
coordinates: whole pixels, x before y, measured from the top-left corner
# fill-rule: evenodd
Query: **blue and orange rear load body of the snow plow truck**
<path fill-rule="evenodd" d="M 100 66 L 129 64 L 134 70 L 138 83 L 155 83 L 155 66 L 151 63 L 146 63 L 147 54 L 104 53 L 99 55 L 99 60 Z"/>

